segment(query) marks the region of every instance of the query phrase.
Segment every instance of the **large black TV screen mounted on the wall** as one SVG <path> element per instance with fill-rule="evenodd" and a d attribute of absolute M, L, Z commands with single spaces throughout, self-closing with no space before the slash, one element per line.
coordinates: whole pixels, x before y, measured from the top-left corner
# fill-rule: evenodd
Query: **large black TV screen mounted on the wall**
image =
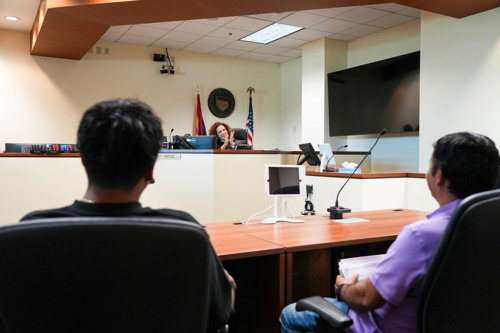
<path fill-rule="evenodd" d="M 330 136 L 417 132 L 420 52 L 328 74 Z"/>

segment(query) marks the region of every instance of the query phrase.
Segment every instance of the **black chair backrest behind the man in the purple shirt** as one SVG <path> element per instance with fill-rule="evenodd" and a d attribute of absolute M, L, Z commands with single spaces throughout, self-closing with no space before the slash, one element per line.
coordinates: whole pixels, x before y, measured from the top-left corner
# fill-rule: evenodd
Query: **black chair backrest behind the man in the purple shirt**
<path fill-rule="evenodd" d="M 500 190 L 461 202 L 429 266 L 418 301 L 420 332 L 498 332 Z"/>

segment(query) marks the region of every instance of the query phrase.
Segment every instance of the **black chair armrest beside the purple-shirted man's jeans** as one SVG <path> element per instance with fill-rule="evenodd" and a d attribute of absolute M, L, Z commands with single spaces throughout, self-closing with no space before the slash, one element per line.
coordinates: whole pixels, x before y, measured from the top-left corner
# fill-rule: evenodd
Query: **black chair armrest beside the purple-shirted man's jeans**
<path fill-rule="evenodd" d="M 326 320 L 334 328 L 352 325 L 352 319 L 335 305 L 328 303 L 320 296 L 312 296 L 299 300 L 295 305 L 297 311 L 313 311 Z"/>

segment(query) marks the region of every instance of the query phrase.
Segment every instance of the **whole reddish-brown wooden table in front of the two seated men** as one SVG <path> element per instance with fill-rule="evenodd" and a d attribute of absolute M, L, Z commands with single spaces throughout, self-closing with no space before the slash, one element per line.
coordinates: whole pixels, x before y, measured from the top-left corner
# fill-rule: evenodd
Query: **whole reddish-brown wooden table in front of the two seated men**
<path fill-rule="evenodd" d="M 392 209 L 344 214 L 369 220 L 350 224 L 316 215 L 300 217 L 305 223 L 207 225 L 215 251 L 238 284 L 231 331 L 279 332 L 283 306 L 332 295 L 338 259 L 385 253 L 405 225 L 426 214 Z"/>

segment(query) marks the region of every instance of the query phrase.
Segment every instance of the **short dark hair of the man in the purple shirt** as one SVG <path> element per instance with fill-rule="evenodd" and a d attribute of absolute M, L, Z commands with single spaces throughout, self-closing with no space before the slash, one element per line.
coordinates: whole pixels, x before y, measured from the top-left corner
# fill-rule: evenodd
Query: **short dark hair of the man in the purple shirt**
<path fill-rule="evenodd" d="M 441 169 L 448 190 L 458 198 L 493 188 L 500 167 L 495 143 L 487 136 L 460 132 L 448 134 L 433 145 L 432 174 Z"/>

